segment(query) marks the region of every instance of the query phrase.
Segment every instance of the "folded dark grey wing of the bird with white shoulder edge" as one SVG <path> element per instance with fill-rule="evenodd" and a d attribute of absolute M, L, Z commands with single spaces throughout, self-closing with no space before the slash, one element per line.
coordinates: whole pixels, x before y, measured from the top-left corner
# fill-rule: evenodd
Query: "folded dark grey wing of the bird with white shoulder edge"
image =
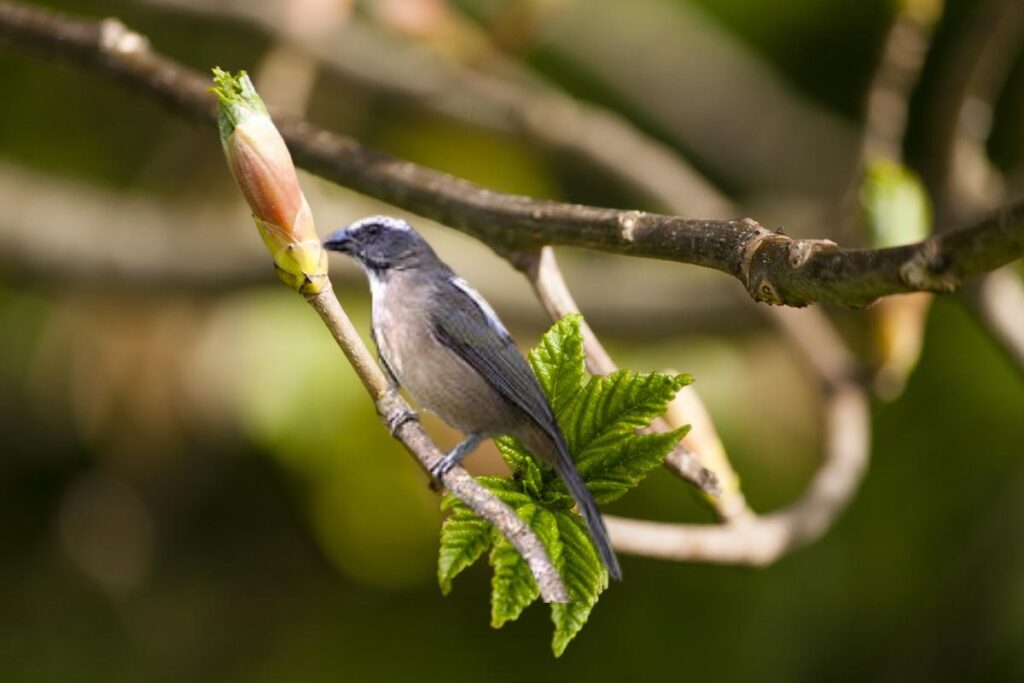
<path fill-rule="evenodd" d="M 551 407 L 534 372 L 505 326 L 479 294 L 459 278 L 435 292 L 434 336 L 480 374 L 502 398 L 548 433 L 555 427 Z M 552 434 L 554 436 L 554 434 Z"/>

